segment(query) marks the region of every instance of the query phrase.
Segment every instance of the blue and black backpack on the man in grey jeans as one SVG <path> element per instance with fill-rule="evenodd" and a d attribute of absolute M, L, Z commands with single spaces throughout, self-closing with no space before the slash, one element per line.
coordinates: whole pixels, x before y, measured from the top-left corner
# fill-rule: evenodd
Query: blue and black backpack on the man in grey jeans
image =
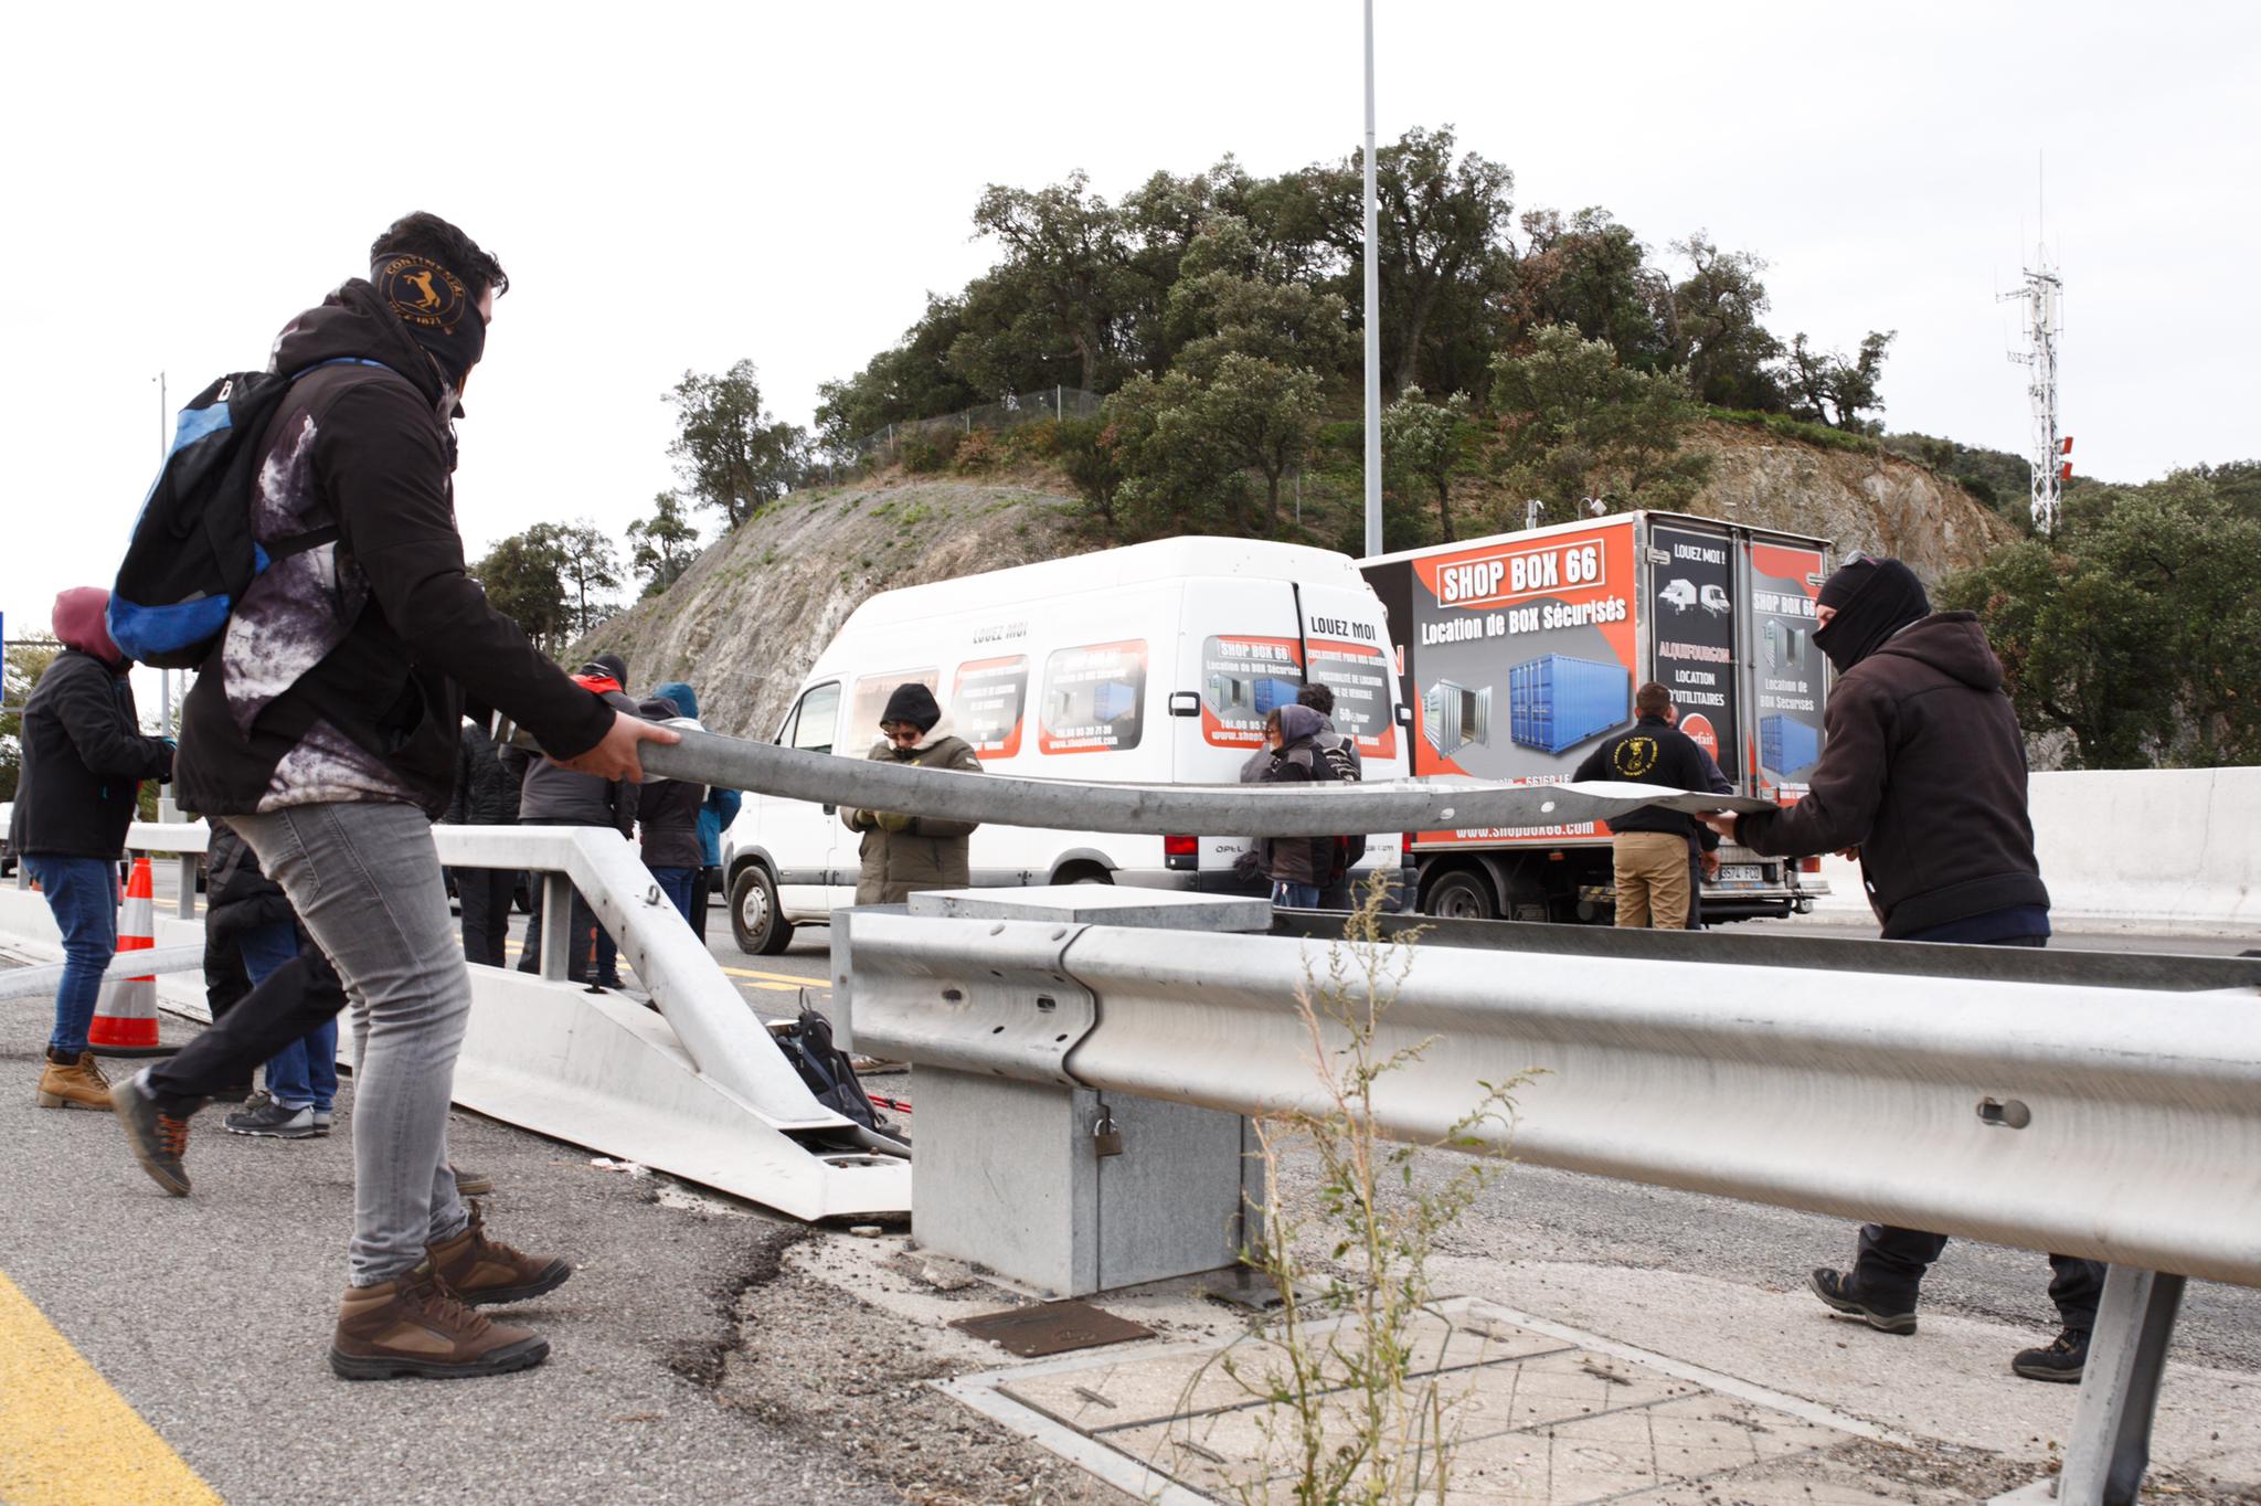
<path fill-rule="evenodd" d="M 253 577 L 278 559 L 337 538 L 337 529 L 314 529 L 274 545 L 251 536 L 260 436 L 301 375 L 305 371 L 235 371 L 181 409 L 172 450 L 142 500 L 133 540 L 118 565 L 118 583 L 111 586 L 111 642 L 127 658 L 158 669 L 197 669 Z"/>

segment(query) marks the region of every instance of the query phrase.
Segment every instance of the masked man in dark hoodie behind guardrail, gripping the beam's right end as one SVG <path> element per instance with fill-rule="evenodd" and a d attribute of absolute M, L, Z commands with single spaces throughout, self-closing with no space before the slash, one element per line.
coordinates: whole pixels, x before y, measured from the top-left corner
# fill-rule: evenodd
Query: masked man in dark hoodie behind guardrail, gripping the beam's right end
<path fill-rule="evenodd" d="M 2048 945 L 2048 889 L 2026 816 L 2026 739 L 1972 613 L 1933 613 L 1897 559 L 1854 556 L 1822 583 L 1813 642 L 1836 665 L 1822 762 L 1786 810 L 1707 816 L 1768 857 L 1859 852 L 1888 941 Z M 1834 1312 L 1915 1332 L 1915 1291 L 1947 1235 L 1870 1223 L 1852 1271 L 1813 1271 Z M 2021 1350 L 2028 1379 L 2078 1382 L 2105 1269 L 2048 1257 L 2064 1332 Z"/>

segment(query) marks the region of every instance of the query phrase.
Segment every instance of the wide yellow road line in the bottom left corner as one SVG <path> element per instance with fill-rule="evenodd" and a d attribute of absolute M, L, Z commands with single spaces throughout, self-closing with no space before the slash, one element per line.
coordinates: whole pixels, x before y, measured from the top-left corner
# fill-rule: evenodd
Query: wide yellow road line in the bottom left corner
<path fill-rule="evenodd" d="M 7 1275 L 0 1275 L 0 1501 L 224 1506 Z"/>

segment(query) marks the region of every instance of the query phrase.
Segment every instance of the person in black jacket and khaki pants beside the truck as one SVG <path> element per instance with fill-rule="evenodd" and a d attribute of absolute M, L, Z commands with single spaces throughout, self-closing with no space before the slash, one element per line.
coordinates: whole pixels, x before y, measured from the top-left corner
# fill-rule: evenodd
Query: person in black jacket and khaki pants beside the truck
<path fill-rule="evenodd" d="M 1709 789 L 1703 751 L 1671 724 L 1671 708 L 1673 694 L 1664 685 L 1655 681 L 1641 685 L 1632 696 L 1637 721 L 1587 753 L 1571 778 Z M 1707 852 L 1718 846 L 1716 834 L 1675 810 L 1644 807 L 1610 821 L 1621 927 L 1687 929 L 1689 905 L 1696 900 L 1689 886 L 1691 837 L 1703 841 Z"/>

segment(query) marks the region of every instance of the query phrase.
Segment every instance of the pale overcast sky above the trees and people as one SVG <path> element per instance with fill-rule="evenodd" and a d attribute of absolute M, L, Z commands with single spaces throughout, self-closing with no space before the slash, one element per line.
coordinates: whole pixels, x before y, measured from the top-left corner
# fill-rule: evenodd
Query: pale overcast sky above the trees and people
<path fill-rule="evenodd" d="M 1361 133 L 1354 0 L 25 7 L 9 23 L 0 611 L 109 583 L 174 405 L 260 366 L 409 208 L 511 274 L 457 475 L 470 552 L 620 534 L 672 484 L 685 371 L 816 384 L 990 262 L 986 183 L 1117 197 Z M 2252 5 L 1379 0 L 1379 129 L 1458 127 L 1517 208 L 1768 258 L 1770 326 L 1899 330 L 1895 430 L 2026 448 L 2006 360 L 2037 235 L 2085 473 L 2261 455 Z"/>

